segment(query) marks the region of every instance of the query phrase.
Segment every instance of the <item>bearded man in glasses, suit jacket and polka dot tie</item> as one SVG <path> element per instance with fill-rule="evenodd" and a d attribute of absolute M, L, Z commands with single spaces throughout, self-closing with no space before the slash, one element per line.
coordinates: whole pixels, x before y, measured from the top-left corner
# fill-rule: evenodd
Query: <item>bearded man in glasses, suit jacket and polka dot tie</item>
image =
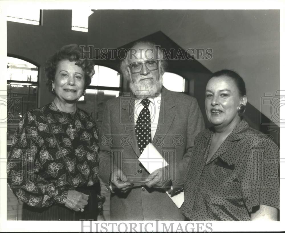
<path fill-rule="evenodd" d="M 162 86 L 164 68 L 157 46 L 136 43 L 121 63 L 132 93 L 106 104 L 99 173 L 112 191 L 111 220 L 184 220 L 165 191 L 183 187 L 194 138 L 205 126 L 195 98 Z M 139 161 L 150 142 L 168 163 L 151 174 Z"/>

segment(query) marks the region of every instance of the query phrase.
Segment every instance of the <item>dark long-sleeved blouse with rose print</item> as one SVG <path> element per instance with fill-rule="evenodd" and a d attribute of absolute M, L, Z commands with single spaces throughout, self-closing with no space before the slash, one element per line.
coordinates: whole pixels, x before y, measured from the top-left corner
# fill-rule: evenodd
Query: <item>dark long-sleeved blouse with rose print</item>
<path fill-rule="evenodd" d="M 50 103 L 28 111 L 8 155 L 7 182 L 13 193 L 41 208 L 64 205 L 69 189 L 98 184 L 97 132 L 94 120 L 81 109 L 64 113 Z"/>

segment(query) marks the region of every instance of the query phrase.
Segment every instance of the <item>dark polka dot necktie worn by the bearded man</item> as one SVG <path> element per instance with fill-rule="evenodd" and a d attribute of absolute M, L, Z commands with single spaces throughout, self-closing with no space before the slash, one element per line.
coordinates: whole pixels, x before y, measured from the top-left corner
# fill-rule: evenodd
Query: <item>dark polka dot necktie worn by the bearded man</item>
<path fill-rule="evenodd" d="M 151 128 L 150 128 L 150 112 L 148 109 L 150 100 L 143 99 L 141 104 L 144 106 L 140 112 L 135 126 L 139 150 L 142 153 L 147 144 L 151 142 Z"/>

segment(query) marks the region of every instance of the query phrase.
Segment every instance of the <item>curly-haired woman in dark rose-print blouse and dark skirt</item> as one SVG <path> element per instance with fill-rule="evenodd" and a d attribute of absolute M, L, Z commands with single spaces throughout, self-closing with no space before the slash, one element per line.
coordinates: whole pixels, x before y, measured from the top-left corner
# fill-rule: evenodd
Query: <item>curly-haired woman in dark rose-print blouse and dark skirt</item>
<path fill-rule="evenodd" d="M 8 155 L 7 182 L 24 202 L 23 220 L 97 220 L 103 202 L 98 130 L 76 105 L 94 65 L 71 44 L 48 59 L 45 72 L 54 101 L 21 118 Z"/>

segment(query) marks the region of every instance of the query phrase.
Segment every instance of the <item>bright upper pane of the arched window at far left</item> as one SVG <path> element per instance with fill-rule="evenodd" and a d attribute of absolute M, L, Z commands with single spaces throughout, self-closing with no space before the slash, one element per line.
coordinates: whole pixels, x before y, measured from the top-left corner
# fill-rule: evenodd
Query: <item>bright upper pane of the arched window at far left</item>
<path fill-rule="evenodd" d="M 38 81 L 38 68 L 24 60 L 7 57 L 7 80 Z"/>

